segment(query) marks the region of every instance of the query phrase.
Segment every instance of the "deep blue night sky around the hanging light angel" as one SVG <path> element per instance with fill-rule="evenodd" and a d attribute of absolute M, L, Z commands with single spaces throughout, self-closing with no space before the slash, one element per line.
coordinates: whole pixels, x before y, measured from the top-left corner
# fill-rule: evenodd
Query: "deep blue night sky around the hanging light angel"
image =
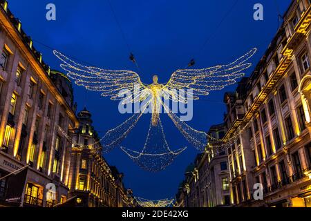
<path fill-rule="evenodd" d="M 283 15 L 290 0 L 276 0 L 279 6 L 269 0 L 239 0 L 216 30 L 235 1 L 111 0 L 140 70 L 129 61 L 129 50 L 107 0 L 10 0 L 9 7 L 21 20 L 23 30 L 35 41 L 102 68 L 134 70 L 144 83 L 151 83 L 151 77 L 157 74 L 159 82 L 163 83 L 168 81 L 174 70 L 185 68 L 191 58 L 196 59 L 194 68 L 205 68 L 227 64 L 257 47 L 258 52 L 252 59 L 256 64 L 276 34 L 278 10 Z M 48 3 L 55 3 L 57 21 L 46 20 Z M 263 4 L 264 21 L 254 21 L 255 3 Z M 202 47 L 209 36 L 212 37 Z M 42 52 L 46 63 L 59 69 L 59 61 L 52 50 L 37 42 L 34 45 Z M 252 68 L 246 75 L 251 71 Z M 194 119 L 188 124 L 208 131 L 212 124 L 223 122 L 223 95 L 235 87 L 216 91 L 194 102 Z M 118 112 L 118 102 L 100 97 L 100 93 L 86 92 L 78 86 L 74 89 L 78 110 L 86 106 L 93 113 L 94 126 L 100 135 L 130 117 Z M 142 117 L 124 141 L 126 148 L 142 149 L 149 119 L 147 115 Z M 134 195 L 151 200 L 174 197 L 186 166 L 194 161 L 197 154 L 169 117 L 163 115 L 161 119 L 171 149 L 188 146 L 166 170 L 159 173 L 142 171 L 118 148 L 105 155 L 109 164 L 117 166 L 125 174 L 124 183 L 133 189 Z"/>

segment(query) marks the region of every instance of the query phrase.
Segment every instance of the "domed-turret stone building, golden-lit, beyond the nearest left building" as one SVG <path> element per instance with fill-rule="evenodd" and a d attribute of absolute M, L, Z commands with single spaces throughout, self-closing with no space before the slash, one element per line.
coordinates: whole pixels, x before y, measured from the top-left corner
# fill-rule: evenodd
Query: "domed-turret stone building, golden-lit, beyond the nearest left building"
<path fill-rule="evenodd" d="M 84 108 L 77 117 L 79 128 L 71 135 L 70 198 L 75 197 L 76 206 L 133 206 L 131 191 L 122 182 L 123 174 L 102 157 L 102 144 L 92 126 L 91 113 Z"/>

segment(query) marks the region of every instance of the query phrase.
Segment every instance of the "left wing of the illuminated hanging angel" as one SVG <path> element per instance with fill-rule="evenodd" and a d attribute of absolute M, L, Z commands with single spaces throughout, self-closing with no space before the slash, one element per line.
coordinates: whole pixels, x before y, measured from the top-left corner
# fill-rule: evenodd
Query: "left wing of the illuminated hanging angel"
<path fill-rule="evenodd" d="M 103 97 L 111 97 L 112 100 L 121 100 L 123 103 L 140 102 L 150 95 L 150 90 L 137 73 L 131 70 L 104 70 L 92 66 L 83 66 L 69 59 L 62 53 L 54 50 L 54 55 L 63 63 L 60 65 L 75 84 L 84 86 L 87 90 L 102 92 Z M 122 94 L 131 93 L 131 96 Z"/>

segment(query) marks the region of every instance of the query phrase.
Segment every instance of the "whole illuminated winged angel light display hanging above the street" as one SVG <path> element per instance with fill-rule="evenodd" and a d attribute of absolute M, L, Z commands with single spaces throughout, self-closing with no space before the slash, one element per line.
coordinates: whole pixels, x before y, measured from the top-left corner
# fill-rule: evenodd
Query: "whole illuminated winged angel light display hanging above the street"
<path fill-rule="evenodd" d="M 189 99 L 197 100 L 200 96 L 209 95 L 211 91 L 221 90 L 225 86 L 235 84 L 237 79 L 244 76 L 243 70 L 252 66 L 247 61 L 255 52 L 256 48 L 249 50 L 245 55 L 227 65 L 176 70 L 166 84 L 159 84 L 156 75 L 153 76 L 152 84 L 143 84 L 139 75 L 131 70 L 105 70 L 93 66 L 83 66 L 60 52 L 54 51 L 54 55 L 62 61 L 60 66 L 78 86 L 84 86 L 87 90 L 99 91 L 103 97 L 110 97 L 112 100 L 122 100 L 122 104 L 135 102 L 142 104 L 140 113 L 134 113 L 122 124 L 108 131 L 101 140 L 103 140 L 105 152 L 120 147 L 142 169 L 160 171 L 185 151 L 185 148 L 180 148 L 177 151 L 171 151 L 169 148 L 160 121 L 161 108 L 164 108 L 164 112 L 171 118 L 176 128 L 198 151 L 205 150 L 208 140 L 207 133 L 191 128 L 163 101 L 187 104 Z M 132 96 L 124 99 L 120 96 L 122 90 L 129 91 Z M 191 97 L 185 98 L 185 96 L 178 95 L 180 90 L 190 91 Z M 122 141 L 129 135 L 149 107 L 152 110 L 151 122 L 142 151 L 133 151 L 121 146 Z M 221 148 L 226 145 L 222 143 Z"/>

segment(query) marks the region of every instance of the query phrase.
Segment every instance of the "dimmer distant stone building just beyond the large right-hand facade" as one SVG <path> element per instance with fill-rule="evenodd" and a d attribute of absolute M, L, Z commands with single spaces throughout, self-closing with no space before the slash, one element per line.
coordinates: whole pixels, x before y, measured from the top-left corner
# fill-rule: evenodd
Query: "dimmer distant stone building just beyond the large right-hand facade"
<path fill-rule="evenodd" d="M 211 126 L 209 136 L 222 139 L 223 124 Z M 229 206 L 229 168 L 226 150 L 212 148 L 213 140 L 204 153 L 197 155 L 194 164 L 185 171 L 185 181 L 180 184 L 176 204 L 186 207 Z"/>

